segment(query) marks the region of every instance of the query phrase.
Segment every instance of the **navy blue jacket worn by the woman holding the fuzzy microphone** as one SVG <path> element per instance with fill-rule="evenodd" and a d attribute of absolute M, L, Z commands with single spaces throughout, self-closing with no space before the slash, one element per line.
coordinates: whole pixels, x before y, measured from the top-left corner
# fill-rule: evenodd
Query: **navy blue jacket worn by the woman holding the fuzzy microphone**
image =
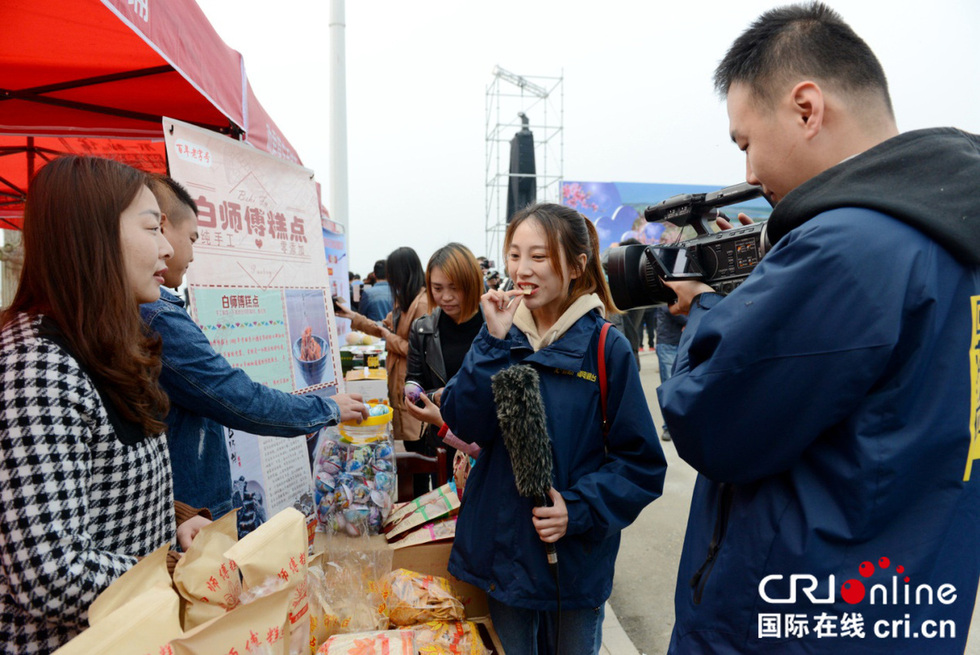
<path fill-rule="evenodd" d="M 496 339 L 486 326 L 446 386 L 442 415 L 460 438 L 483 451 L 470 473 L 449 571 L 510 606 L 554 610 L 555 585 L 532 503 L 517 494 L 496 415 L 490 377 L 517 363 L 541 380 L 554 458 L 553 486 L 568 506 L 568 532 L 557 543 L 563 609 L 598 607 L 612 590 L 620 531 L 660 496 L 667 464 L 626 338 L 606 338 L 611 422 L 602 436 L 599 330 L 595 311 L 555 343 L 534 352 L 516 327 Z"/>

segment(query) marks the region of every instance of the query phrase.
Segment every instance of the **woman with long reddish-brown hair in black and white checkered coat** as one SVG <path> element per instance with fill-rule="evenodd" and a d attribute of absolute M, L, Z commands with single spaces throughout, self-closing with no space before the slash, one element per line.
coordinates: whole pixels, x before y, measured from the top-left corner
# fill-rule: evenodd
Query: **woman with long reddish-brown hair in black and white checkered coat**
<path fill-rule="evenodd" d="M 173 250 L 143 173 L 62 157 L 28 190 L 0 314 L 0 652 L 48 653 L 109 583 L 175 536 L 156 300 Z"/>

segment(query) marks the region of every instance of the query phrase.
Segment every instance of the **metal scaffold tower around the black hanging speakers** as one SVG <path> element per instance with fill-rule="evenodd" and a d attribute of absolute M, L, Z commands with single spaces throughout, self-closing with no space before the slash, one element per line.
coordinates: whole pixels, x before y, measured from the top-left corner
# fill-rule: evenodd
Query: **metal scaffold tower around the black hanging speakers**
<path fill-rule="evenodd" d="M 561 202 L 565 158 L 564 73 L 559 77 L 515 75 L 500 66 L 486 94 L 486 256 L 499 261 L 507 229 L 510 140 L 522 127 L 534 133 L 537 202 Z M 500 262 L 503 267 L 503 262 Z"/>

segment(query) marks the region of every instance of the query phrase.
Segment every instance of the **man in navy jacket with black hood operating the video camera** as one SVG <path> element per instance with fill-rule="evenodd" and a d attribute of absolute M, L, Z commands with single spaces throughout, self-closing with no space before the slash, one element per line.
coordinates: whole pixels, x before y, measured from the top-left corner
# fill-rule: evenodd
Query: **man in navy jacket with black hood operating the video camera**
<path fill-rule="evenodd" d="M 980 138 L 900 134 L 876 57 L 818 3 L 763 14 L 715 85 L 776 203 L 773 246 L 728 297 L 669 283 L 689 323 L 660 404 L 700 473 L 670 652 L 961 653 L 980 575 Z M 919 601 L 921 585 L 955 593 Z M 908 637 L 944 620 L 955 637 Z"/>

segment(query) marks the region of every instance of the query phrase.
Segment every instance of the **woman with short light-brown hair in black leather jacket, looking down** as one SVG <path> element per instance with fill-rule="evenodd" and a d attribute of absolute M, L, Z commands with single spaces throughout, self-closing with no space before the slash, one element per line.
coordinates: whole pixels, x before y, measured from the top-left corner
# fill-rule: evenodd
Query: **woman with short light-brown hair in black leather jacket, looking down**
<path fill-rule="evenodd" d="M 426 421 L 422 437 L 424 454 L 434 454 L 437 446 L 446 448 L 448 477 L 452 477 L 452 461 L 456 449 L 439 436 L 442 416 L 438 406 L 443 387 L 456 374 L 470 344 L 483 327 L 480 296 L 483 294 L 483 273 L 470 250 L 459 243 L 443 246 L 429 258 L 425 268 L 426 293 L 432 311 L 412 324 L 408 346 L 406 381 L 414 381 L 425 389 L 419 409 L 406 406 L 416 418 Z M 416 495 L 427 490 L 428 480 L 416 479 Z"/>

